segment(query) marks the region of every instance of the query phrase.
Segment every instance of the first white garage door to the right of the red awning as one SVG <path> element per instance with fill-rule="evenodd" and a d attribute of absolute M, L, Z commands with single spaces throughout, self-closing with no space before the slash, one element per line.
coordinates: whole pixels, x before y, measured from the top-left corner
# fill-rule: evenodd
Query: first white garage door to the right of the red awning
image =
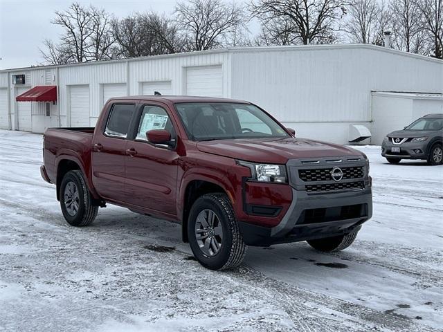
<path fill-rule="evenodd" d="M 89 127 L 89 85 L 69 87 L 71 127 Z"/>

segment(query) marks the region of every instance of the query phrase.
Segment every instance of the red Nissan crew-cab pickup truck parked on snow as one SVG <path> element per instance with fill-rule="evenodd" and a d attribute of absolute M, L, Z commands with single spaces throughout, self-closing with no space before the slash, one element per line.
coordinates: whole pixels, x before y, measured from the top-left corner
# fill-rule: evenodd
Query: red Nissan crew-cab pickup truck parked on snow
<path fill-rule="evenodd" d="M 296 138 L 241 100 L 113 98 L 95 128 L 46 130 L 41 173 L 69 224 L 89 225 L 106 203 L 176 221 L 214 270 L 248 245 L 342 250 L 372 215 L 363 153 Z"/>

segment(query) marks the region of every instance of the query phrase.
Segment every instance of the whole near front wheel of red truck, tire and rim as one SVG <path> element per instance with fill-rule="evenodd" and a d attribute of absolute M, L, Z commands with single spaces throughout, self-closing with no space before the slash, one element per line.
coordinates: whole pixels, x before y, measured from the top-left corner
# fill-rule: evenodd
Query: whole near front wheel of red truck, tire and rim
<path fill-rule="evenodd" d="M 195 258 L 211 270 L 235 268 L 246 255 L 246 245 L 225 194 L 205 194 L 190 210 L 188 239 Z"/>

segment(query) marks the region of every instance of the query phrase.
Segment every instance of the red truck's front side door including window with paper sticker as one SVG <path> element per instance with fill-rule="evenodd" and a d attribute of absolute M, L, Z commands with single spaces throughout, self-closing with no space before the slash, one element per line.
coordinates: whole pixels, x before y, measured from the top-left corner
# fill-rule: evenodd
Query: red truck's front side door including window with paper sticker
<path fill-rule="evenodd" d="M 143 104 L 135 123 L 134 140 L 127 142 L 125 193 L 141 210 L 176 216 L 177 172 L 179 155 L 175 147 L 155 145 L 146 131 L 165 129 L 177 142 L 176 131 L 167 107 Z"/>

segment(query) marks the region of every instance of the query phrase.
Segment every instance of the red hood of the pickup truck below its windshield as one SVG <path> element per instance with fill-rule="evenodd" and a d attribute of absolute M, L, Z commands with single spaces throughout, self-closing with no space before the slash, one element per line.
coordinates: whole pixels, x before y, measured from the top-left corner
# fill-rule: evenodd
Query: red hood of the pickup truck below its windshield
<path fill-rule="evenodd" d="M 253 138 L 238 140 L 213 140 L 198 142 L 197 149 L 255 163 L 284 164 L 295 158 L 320 158 L 361 156 L 361 152 L 343 145 L 336 145 L 304 138 Z"/>

